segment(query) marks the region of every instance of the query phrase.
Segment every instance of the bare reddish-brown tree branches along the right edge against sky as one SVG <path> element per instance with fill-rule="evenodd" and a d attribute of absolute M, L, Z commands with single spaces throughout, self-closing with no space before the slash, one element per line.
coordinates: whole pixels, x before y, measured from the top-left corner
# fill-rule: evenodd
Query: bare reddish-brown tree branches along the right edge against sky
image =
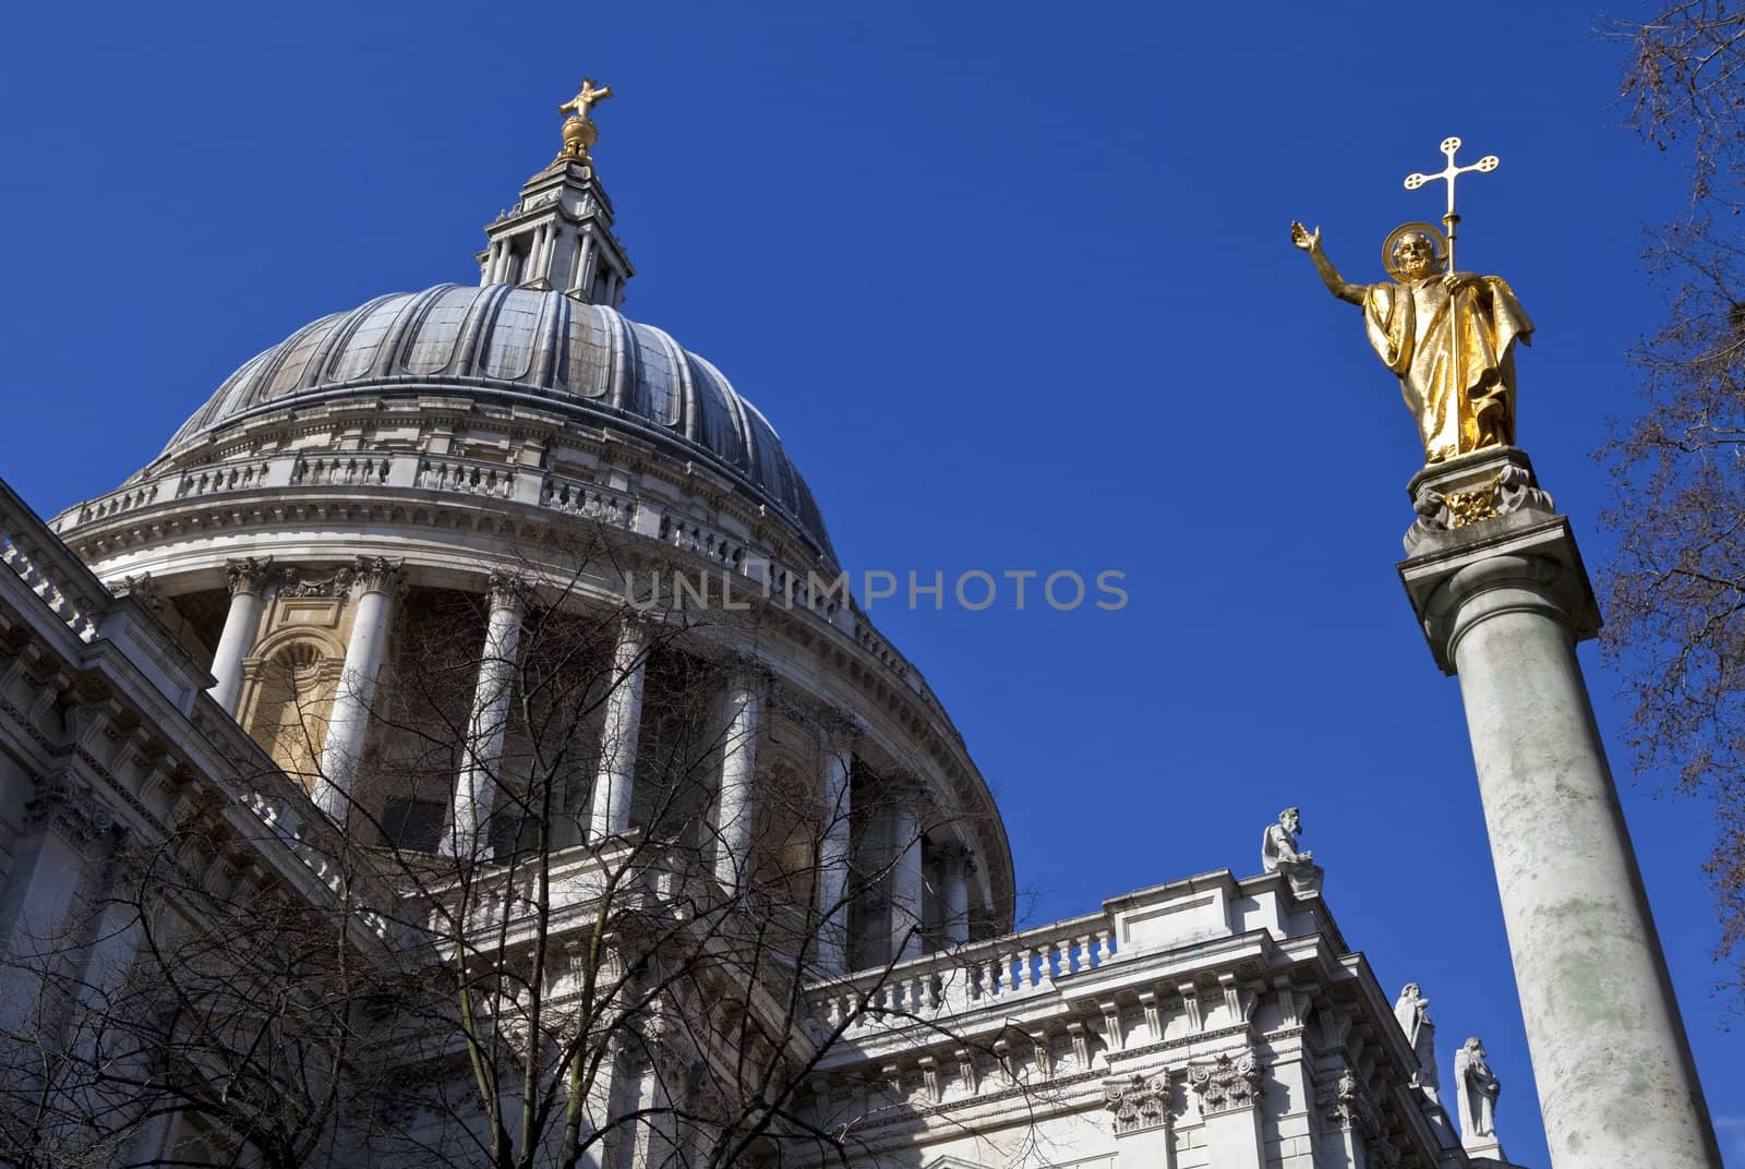
<path fill-rule="evenodd" d="M 1602 31 L 1628 47 L 1632 127 L 1689 173 L 1646 251 L 1668 309 L 1632 354 L 1642 410 L 1600 450 L 1618 534 L 1604 646 L 1639 762 L 1715 804 L 1717 956 L 1745 989 L 1745 12 L 1691 0 Z"/>

